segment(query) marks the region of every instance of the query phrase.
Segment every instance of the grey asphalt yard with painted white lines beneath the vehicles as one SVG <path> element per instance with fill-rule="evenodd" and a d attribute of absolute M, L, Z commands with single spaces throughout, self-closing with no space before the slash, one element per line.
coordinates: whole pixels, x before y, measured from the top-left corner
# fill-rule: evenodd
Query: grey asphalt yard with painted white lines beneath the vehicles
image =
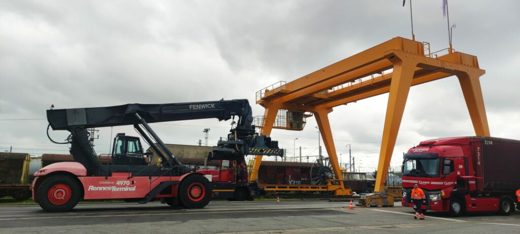
<path fill-rule="evenodd" d="M 66 213 L 37 205 L 0 206 L 0 233 L 518 233 L 520 212 L 452 218 L 407 207 L 355 207 L 328 201 L 212 201 L 186 210 L 160 203 L 79 204 Z M 396 205 L 399 205 L 398 203 Z"/>

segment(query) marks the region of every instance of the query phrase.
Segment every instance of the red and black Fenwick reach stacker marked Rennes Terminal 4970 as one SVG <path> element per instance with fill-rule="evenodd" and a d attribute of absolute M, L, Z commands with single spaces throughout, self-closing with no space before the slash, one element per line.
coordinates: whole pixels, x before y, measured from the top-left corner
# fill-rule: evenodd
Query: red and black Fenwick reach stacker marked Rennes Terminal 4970
<path fill-rule="evenodd" d="M 222 121 L 235 116 L 236 126 L 226 140 L 218 141 L 208 160 L 241 162 L 244 155 L 253 152 L 283 155 L 277 141 L 255 132 L 251 107 L 245 99 L 47 110 L 49 127 L 70 132 L 66 142 L 49 139 L 71 144 L 74 162 L 54 163 L 37 171 L 33 200 L 49 212 L 69 211 L 82 199 L 161 200 L 172 206 L 202 208 L 211 199 L 209 180 L 197 168 L 181 164 L 148 123 L 209 118 Z M 124 134 L 114 140 L 112 164 L 99 162 L 89 141 L 89 129 L 122 125 L 134 125 L 161 158 L 160 166 L 149 166 L 145 158 L 150 153 L 143 152 L 140 139 Z"/>

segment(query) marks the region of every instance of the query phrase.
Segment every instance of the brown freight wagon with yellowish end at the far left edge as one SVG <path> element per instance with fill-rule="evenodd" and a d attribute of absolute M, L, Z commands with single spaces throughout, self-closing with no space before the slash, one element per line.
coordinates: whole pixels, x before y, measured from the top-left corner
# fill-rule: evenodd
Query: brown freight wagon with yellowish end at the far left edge
<path fill-rule="evenodd" d="M 0 198 L 23 201 L 31 198 L 28 153 L 0 153 Z"/>

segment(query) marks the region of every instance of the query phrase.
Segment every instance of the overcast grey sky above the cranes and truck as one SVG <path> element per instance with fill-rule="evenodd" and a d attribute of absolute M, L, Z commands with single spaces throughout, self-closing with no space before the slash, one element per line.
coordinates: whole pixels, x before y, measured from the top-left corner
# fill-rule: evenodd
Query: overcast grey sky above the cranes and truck
<path fill-rule="evenodd" d="M 432 51 L 448 47 L 442 1 L 413 1 L 417 41 Z M 46 136 L 45 110 L 249 99 L 278 81 L 290 82 L 362 50 L 411 38 L 409 1 L 2 1 L 0 2 L 0 150 L 68 153 Z M 453 48 L 476 55 L 492 136 L 520 139 L 520 16 L 518 1 L 449 1 Z M 348 147 L 357 168 L 377 165 L 387 95 L 329 114 L 342 162 Z M 23 120 L 22 120 L 23 119 Z M 30 119 L 30 120 L 25 120 Z M 152 124 L 164 142 L 210 145 L 230 121 Z M 313 118 L 301 132 L 275 129 L 288 155 L 302 147 L 318 154 Z M 115 133 L 100 128 L 97 153 L 108 153 Z M 111 136 L 111 130 L 113 130 Z M 56 140 L 66 131 L 50 133 Z M 419 141 L 474 135 L 456 77 L 412 87 L 392 166 Z M 298 138 L 294 141 L 295 138 Z M 298 151 L 298 150 L 297 150 Z M 299 155 L 299 151 L 296 153 Z M 274 160 L 265 157 L 265 160 Z M 312 160 L 312 159 L 310 159 Z M 396 169 L 397 170 L 397 169 Z"/>

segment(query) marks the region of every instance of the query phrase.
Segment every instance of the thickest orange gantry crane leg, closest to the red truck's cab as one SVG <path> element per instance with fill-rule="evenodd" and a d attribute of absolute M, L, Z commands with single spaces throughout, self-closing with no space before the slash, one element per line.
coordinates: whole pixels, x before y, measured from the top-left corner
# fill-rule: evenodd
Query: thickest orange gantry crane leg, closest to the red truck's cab
<path fill-rule="evenodd" d="M 375 179 L 375 192 L 381 192 L 385 186 L 386 175 L 392 153 L 394 152 L 397 133 L 401 125 L 402 113 L 405 111 L 406 100 L 412 85 L 413 73 L 417 65 L 413 59 L 396 58 L 392 60 L 394 63 L 394 74 L 390 84 L 390 92 L 388 95 L 388 105 L 386 107 L 385 125 L 383 128 L 383 139 L 381 144 L 381 151 L 379 153 L 378 174 Z M 410 61 L 411 60 L 411 61 Z"/>

